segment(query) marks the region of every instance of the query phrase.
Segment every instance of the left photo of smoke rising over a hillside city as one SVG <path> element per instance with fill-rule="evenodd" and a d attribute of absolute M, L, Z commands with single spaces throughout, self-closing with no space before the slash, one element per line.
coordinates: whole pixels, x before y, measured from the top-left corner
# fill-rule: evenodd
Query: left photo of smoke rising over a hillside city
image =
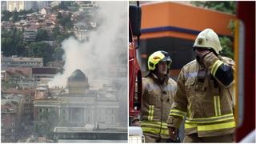
<path fill-rule="evenodd" d="M 1 1 L 1 142 L 127 142 L 128 2 Z"/>

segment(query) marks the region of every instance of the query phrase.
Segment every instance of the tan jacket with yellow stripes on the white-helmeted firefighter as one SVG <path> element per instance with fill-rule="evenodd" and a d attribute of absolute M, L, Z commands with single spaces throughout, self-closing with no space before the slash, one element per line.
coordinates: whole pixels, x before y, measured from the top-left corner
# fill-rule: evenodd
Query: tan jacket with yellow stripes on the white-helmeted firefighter
<path fill-rule="evenodd" d="M 177 82 L 177 93 L 167 121 L 178 128 L 186 116 L 185 134 L 198 137 L 234 133 L 234 61 L 212 52 L 183 66 Z"/>

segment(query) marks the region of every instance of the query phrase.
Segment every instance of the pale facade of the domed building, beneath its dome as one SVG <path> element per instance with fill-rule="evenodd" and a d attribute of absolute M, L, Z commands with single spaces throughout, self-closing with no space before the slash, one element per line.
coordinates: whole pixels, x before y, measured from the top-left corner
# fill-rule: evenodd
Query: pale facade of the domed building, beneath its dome
<path fill-rule="evenodd" d="M 34 105 L 35 121 L 39 120 L 40 113 L 54 108 L 57 109 L 56 118 L 58 117 L 59 121 L 65 120 L 70 126 L 85 126 L 86 124 L 96 126 L 97 122 L 104 122 L 106 124 L 118 122 L 118 101 L 113 103 L 113 101 L 98 102 L 96 100 L 87 102 L 84 105 L 80 105 L 84 98 L 80 98 L 80 102 L 77 105 L 69 102 L 62 103 L 60 99 L 56 104 L 51 103 L 50 99 L 44 100 L 44 102 L 40 102 L 40 100 L 35 101 L 37 103 Z"/>

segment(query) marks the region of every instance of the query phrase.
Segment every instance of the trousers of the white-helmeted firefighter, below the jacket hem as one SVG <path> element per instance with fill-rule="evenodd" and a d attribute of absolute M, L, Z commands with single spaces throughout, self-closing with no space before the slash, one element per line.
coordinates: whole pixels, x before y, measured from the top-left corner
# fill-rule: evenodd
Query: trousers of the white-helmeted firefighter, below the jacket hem
<path fill-rule="evenodd" d="M 198 137 L 197 133 L 186 135 L 183 142 L 234 142 L 234 134 L 220 135 L 215 137 Z"/>

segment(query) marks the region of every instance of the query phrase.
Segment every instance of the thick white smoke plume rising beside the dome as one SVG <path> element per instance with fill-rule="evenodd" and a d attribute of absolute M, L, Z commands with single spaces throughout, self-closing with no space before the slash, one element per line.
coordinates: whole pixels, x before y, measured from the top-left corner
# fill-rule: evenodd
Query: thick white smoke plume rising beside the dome
<path fill-rule="evenodd" d="M 97 2 L 97 5 L 95 20 L 100 22 L 97 30 L 90 32 L 89 42 L 78 42 L 73 37 L 62 42 L 64 72 L 48 83 L 50 87 L 66 87 L 67 78 L 77 69 L 86 74 L 89 82 L 103 82 L 110 76 L 111 66 L 127 65 L 127 2 Z"/>

